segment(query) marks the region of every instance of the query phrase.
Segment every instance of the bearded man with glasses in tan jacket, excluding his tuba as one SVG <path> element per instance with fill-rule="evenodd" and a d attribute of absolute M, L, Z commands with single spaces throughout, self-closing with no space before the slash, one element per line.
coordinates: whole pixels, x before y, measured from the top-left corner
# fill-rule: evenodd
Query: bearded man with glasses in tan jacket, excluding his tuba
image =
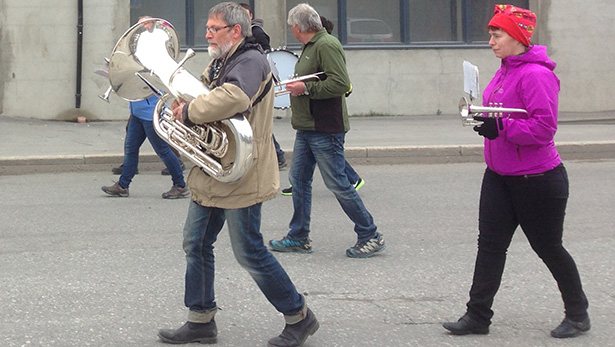
<path fill-rule="evenodd" d="M 223 183 L 198 167 L 188 176 L 192 201 L 184 226 L 188 321 L 179 329 L 162 329 L 167 343 L 212 343 L 218 310 L 214 296 L 213 244 L 228 221 L 231 245 L 239 263 L 286 320 L 270 346 L 300 346 L 319 323 L 307 308 L 288 274 L 267 250 L 259 231 L 261 205 L 279 189 L 279 172 L 272 140 L 273 98 L 269 63 L 251 36 L 250 17 L 232 2 L 210 9 L 206 38 L 213 58 L 203 82 L 211 89 L 193 101 L 173 103 L 173 114 L 186 125 L 210 123 L 243 114 L 254 137 L 254 163 L 237 182 Z M 231 141 L 232 142 L 232 141 Z"/>

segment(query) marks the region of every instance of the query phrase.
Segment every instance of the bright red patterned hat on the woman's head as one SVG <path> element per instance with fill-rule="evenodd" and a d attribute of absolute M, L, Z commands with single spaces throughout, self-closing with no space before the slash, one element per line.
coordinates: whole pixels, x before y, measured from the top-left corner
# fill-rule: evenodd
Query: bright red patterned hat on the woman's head
<path fill-rule="evenodd" d="M 489 26 L 506 31 L 525 46 L 530 45 L 532 34 L 536 29 L 534 12 L 513 5 L 495 5 L 493 13 L 495 15 L 489 21 Z"/>

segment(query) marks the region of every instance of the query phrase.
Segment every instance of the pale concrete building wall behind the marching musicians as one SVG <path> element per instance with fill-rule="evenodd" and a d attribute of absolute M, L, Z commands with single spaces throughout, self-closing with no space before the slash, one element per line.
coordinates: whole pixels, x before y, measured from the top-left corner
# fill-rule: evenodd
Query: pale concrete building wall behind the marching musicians
<path fill-rule="evenodd" d="M 128 0 L 84 1 L 81 105 L 76 108 L 77 3 L 73 0 L 8 0 L 0 2 L 0 112 L 5 116 L 49 120 L 120 120 L 127 102 L 98 95 L 108 81 L 92 73 L 104 67 L 118 38 L 131 25 Z M 593 0 L 531 0 L 539 16 L 535 42 L 549 47 L 561 80 L 560 111 L 615 110 L 607 92 L 615 81 L 611 63 L 615 46 L 615 3 Z M 284 0 L 257 1 L 272 46 L 283 46 Z M 180 38 L 181 39 L 181 38 Z M 487 84 L 499 60 L 489 48 L 346 50 L 354 92 L 348 98 L 353 115 L 453 114 L 463 92 L 462 63 L 480 70 Z M 187 68 L 195 76 L 208 63 L 199 52 Z M 276 115 L 288 115 L 277 111 Z"/>

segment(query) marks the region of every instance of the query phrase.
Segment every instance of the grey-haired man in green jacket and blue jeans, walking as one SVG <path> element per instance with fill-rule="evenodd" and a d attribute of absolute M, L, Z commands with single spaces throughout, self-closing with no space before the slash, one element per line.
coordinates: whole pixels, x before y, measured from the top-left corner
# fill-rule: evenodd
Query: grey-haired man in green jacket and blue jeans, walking
<path fill-rule="evenodd" d="M 357 243 L 346 250 L 346 255 L 371 257 L 382 251 L 385 243 L 344 171 L 344 138 L 350 130 L 345 95 L 351 86 L 344 50 L 323 28 L 320 16 L 308 4 L 299 4 L 289 11 L 288 25 L 303 44 L 295 74 L 324 72 L 326 78 L 286 85 L 291 94 L 291 124 L 297 130 L 289 173 L 294 213 L 288 234 L 281 240 L 271 240 L 269 245 L 280 252 L 312 252 L 309 239 L 312 177 L 318 164 L 325 185 L 355 224 Z"/>

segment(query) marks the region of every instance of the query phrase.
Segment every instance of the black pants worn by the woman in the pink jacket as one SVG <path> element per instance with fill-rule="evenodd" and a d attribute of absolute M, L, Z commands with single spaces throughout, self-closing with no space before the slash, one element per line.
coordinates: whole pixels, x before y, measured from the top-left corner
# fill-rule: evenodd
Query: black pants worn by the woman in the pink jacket
<path fill-rule="evenodd" d="M 555 278 L 566 317 L 587 317 L 587 298 L 577 266 L 562 245 L 568 201 L 568 175 L 563 164 L 537 175 L 501 176 L 487 169 L 479 207 L 478 254 L 467 303 L 470 317 L 491 323 L 493 298 L 500 287 L 506 252 L 521 226 L 534 252 Z"/>

